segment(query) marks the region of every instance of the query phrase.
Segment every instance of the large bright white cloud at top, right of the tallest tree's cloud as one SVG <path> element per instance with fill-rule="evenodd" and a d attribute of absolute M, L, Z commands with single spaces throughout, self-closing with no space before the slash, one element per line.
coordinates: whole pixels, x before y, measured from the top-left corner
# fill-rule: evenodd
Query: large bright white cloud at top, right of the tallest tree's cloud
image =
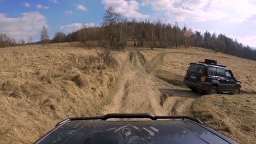
<path fill-rule="evenodd" d="M 220 20 L 227 15 L 216 9 L 203 9 L 208 0 L 142 0 L 142 5 L 151 5 L 154 10 L 164 10 L 165 15 L 176 21 L 205 22 Z"/>

